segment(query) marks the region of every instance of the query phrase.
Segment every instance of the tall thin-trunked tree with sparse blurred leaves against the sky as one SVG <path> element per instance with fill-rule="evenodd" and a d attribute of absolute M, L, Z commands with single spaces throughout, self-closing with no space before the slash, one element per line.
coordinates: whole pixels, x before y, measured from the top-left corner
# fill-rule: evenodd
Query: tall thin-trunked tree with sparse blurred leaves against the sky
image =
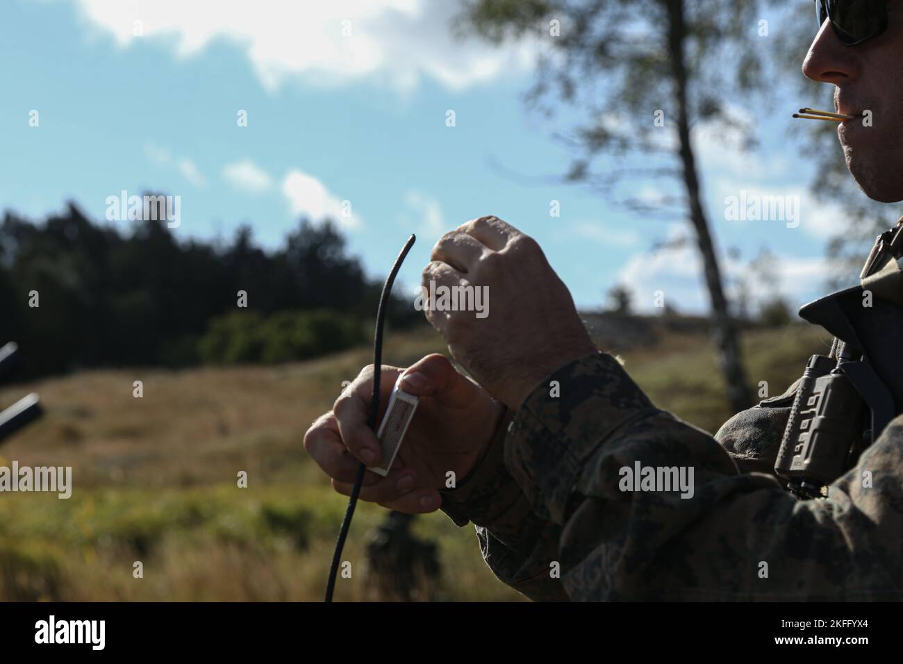
<path fill-rule="evenodd" d="M 738 410 L 749 406 L 751 393 L 703 205 L 691 130 L 707 121 L 731 126 L 752 141 L 749 128 L 731 117 L 724 100 L 766 84 L 760 76 L 759 25 L 759 3 L 749 0 L 463 0 L 456 23 L 460 33 L 474 30 L 494 43 L 528 38 L 544 45 L 530 100 L 551 100 L 548 114 L 565 102 L 585 116 L 563 137 L 579 154 L 568 181 L 612 197 L 625 176 L 670 177 L 683 190 L 651 204 L 621 202 L 644 214 L 690 222 L 703 259 L 728 397 Z M 599 173 L 595 163 L 602 154 L 609 157 L 608 167 Z M 628 167 L 630 158 L 642 165 Z"/>

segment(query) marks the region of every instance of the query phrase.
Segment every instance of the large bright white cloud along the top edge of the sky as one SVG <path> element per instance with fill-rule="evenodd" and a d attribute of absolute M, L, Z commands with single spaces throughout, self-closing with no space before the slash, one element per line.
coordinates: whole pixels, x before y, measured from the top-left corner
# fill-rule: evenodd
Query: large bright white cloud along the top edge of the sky
<path fill-rule="evenodd" d="M 168 39 L 180 56 L 225 38 L 246 52 L 261 83 L 277 88 L 303 72 L 324 84 L 376 77 L 400 89 L 428 77 L 449 89 L 496 79 L 535 62 L 527 42 L 496 48 L 476 39 L 456 41 L 449 20 L 457 3 L 427 0 L 184 0 L 123 2 L 74 0 L 90 23 L 112 34 L 120 45 Z M 135 36 L 140 20 L 143 36 Z"/>

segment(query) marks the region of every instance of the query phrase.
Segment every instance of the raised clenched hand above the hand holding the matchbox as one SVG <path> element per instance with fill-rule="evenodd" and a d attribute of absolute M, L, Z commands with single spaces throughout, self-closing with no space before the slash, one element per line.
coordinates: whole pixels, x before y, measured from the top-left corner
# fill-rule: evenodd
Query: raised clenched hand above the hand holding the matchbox
<path fill-rule="evenodd" d="M 427 293 L 472 286 L 488 295 L 484 312 L 453 311 L 437 297 L 425 313 L 454 359 L 507 407 L 517 409 L 555 369 L 596 351 L 542 249 L 513 226 L 497 217 L 468 221 L 442 236 L 431 258 Z"/>

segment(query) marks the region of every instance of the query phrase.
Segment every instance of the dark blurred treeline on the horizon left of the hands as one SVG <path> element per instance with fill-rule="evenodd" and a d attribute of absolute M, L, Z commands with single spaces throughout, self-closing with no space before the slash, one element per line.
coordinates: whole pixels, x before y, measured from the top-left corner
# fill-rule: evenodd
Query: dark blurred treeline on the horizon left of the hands
<path fill-rule="evenodd" d="M 0 345 L 18 342 L 20 379 L 339 351 L 369 339 L 381 288 L 329 220 L 300 220 L 273 251 L 248 226 L 228 241 L 180 240 L 165 220 L 116 229 L 72 203 L 40 223 L 6 212 L 0 224 Z M 420 316 L 395 298 L 388 320 Z"/>

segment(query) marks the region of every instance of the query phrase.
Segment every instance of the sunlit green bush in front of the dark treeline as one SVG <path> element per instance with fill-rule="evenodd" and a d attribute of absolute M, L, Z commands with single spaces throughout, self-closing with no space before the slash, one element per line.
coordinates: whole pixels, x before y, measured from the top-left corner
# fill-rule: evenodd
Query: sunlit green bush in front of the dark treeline
<path fill-rule="evenodd" d="M 353 316 L 328 309 L 275 313 L 235 312 L 213 319 L 198 343 L 208 364 L 276 364 L 342 351 L 366 340 Z"/>

